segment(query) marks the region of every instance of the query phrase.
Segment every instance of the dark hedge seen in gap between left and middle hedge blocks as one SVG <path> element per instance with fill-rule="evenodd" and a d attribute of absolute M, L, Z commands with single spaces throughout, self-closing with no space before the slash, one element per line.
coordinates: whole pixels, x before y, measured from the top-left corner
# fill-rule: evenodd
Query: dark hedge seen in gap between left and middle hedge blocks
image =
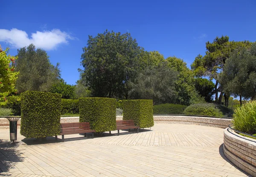
<path fill-rule="evenodd" d="M 73 99 L 61 99 L 61 115 L 79 114 L 79 101 Z"/>

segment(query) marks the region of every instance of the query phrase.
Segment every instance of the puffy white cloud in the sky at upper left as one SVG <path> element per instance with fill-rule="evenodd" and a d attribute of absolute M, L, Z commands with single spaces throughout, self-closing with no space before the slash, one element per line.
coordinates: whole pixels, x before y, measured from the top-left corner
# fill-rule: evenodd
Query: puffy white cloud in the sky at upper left
<path fill-rule="evenodd" d="M 21 48 L 33 43 L 37 48 L 45 50 L 55 49 L 60 44 L 67 44 L 68 39 L 74 39 L 69 34 L 59 29 L 52 31 L 36 31 L 31 37 L 25 31 L 12 28 L 0 29 L 0 42 L 6 42 L 15 48 Z"/>

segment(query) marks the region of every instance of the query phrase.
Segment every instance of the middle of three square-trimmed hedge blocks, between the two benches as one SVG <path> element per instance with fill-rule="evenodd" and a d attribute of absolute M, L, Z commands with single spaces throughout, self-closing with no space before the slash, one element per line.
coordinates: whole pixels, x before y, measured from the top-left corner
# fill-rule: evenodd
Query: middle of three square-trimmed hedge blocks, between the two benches
<path fill-rule="evenodd" d="M 79 98 L 79 121 L 90 122 L 96 132 L 116 130 L 115 98 Z"/>

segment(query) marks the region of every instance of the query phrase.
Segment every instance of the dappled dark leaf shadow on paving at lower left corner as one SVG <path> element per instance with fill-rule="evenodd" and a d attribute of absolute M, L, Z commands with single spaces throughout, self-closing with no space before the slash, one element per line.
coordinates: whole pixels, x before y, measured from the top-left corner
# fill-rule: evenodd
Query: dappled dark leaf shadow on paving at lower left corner
<path fill-rule="evenodd" d="M 15 164 L 24 160 L 23 153 L 17 149 L 18 147 L 19 142 L 12 144 L 10 141 L 0 140 L 0 175 L 2 172 L 9 172 L 9 169 L 15 169 Z"/>

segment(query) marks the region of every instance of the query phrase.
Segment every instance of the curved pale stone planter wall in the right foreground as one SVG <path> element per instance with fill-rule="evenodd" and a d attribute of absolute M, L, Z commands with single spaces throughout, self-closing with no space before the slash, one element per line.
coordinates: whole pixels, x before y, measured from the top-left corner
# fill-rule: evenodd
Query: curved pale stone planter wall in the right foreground
<path fill-rule="evenodd" d="M 256 140 L 224 130 L 224 155 L 239 169 L 256 177 Z"/>

